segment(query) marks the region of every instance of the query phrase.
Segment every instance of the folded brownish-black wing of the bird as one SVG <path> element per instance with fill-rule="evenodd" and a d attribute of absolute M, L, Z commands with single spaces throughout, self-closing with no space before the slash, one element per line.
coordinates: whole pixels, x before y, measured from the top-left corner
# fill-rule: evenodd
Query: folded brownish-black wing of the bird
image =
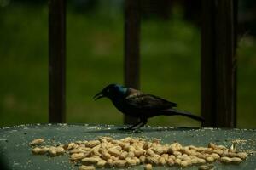
<path fill-rule="evenodd" d="M 176 103 L 161 99 L 160 97 L 151 94 L 134 93 L 128 95 L 125 100 L 126 104 L 144 110 L 165 110 L 177 107 Z"/>

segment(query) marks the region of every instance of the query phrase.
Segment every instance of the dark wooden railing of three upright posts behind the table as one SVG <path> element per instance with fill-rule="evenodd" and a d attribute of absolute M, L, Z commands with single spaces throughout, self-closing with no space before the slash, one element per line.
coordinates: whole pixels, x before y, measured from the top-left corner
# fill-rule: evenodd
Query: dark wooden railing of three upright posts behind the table
<path fill-rule="evenodd" d="M 201 1 L 204 127 L 236 127 L 237 0 Z M 125 0 L 125 85 L 140 88 L 141 0 Z M 49 0 L 49 122 L 65 122 L 66 1 Z M 136 119 L 125 117 L 125 123 Z"/>

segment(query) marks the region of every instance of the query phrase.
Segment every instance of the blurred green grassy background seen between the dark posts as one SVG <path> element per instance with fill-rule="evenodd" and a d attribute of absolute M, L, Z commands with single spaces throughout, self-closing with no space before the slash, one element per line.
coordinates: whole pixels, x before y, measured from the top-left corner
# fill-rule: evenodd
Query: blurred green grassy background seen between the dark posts
<path fill-rule="evenodd" d="M 47 3 L 0 2 L 0 127 L 48 122 Z M 92 97 L 109 83 L 123 83 L 123 1 L 81 2 L 67 3 L 67 122 L 122 124 L 122 114 L 108 99 L 95 102 Z M 237 50 L 237 125 L 255 128 L 256 40 L 244 26 Z M 181 5 L 174 5 L 168 17 L 145 14 L 143 92 L 199 115 L 200 46 L 198 23 L 185 19 Z M 199 126 L 180 116 L 154 117 L 148 124 Z"/>

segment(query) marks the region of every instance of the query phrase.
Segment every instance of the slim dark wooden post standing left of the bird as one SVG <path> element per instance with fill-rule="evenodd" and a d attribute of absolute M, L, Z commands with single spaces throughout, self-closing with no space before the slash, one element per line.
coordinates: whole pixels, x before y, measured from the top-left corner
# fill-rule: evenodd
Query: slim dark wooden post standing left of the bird
<path fill-rule="evenodd" d="M 66 0 L 49 0 L 49 122 L 65 122 Z"/>

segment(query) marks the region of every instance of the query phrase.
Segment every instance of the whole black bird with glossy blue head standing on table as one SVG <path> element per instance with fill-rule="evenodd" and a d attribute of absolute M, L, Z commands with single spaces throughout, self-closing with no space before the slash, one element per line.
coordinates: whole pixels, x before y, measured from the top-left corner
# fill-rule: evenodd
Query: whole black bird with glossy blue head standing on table
<path fill-rule="evenodd" d="M 102 92 L 96 94 L 94 99 L 106 97 L 113 102 L 113 105 L 122 113 L 128 116 L 139 118 L 139 122 L 126 129 L 134 127 L 143 127 L 148 122 L 148 118 L 153 116 L 187 116 L 197 121 L 203 121 L 200 116 L 192 115 L 187 111 L 177 111 L 173 109 L 177 107 L 176 103 L 161 99 L 152 94 L 143 94 L 143 92 L 134 89 L 126 88 L 119 84 L 110 84 L 102 89 Z"/>

